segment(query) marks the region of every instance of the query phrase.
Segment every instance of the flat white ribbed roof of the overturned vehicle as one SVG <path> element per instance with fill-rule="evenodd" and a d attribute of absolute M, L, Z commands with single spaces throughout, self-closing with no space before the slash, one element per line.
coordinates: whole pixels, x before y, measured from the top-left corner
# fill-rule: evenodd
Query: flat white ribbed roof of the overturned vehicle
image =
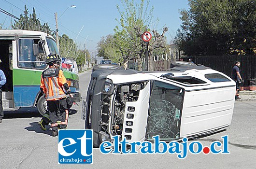
<path fill-rule="evenodd" d="M 180 137 L 230 126 L 236 87 L 185 91 Z"/>

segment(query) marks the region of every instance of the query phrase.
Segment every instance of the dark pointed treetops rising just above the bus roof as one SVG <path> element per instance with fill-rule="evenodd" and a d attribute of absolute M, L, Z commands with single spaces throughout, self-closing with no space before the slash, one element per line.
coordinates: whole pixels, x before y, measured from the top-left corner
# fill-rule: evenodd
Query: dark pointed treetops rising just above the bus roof
<path fill-rule="evenodd" d="M 13 29 L 36 30 L 53 35 L 53 31 L 47 22 L 41 25 L 39 18 L 36 16 L 35 8 L 33 8 L 32 14 L 28 14 L 28 8 L 25 5 L 24 14 L 20 14 L 20 20 L 14 20 L 14 22 L 14 25 L 12 25 Z"/>

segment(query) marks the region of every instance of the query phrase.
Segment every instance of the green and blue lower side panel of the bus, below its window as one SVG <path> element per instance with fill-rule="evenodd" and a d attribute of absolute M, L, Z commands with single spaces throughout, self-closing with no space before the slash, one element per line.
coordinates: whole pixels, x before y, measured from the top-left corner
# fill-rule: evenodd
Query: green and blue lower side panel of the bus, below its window
<path fill-rule="evenodd" d="M 40 92 L 40 79 L 42 71 L 13 70 L 14 105 L 18 107 L 31 107 L 36 95 Z"/>

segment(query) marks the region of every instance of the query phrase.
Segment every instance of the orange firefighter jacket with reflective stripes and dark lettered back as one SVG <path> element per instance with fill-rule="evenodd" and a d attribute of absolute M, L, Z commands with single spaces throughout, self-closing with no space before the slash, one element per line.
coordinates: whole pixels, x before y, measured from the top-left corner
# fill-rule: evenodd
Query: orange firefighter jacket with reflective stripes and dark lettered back
<path fill-rule="evenodd" d="M 44 70 L 41 76 L 41 85 L 45 93 L 46 100 L 59 100 L 65 98 L 63 84 L 67 83 L 63 71 L 53 66 Z"/>

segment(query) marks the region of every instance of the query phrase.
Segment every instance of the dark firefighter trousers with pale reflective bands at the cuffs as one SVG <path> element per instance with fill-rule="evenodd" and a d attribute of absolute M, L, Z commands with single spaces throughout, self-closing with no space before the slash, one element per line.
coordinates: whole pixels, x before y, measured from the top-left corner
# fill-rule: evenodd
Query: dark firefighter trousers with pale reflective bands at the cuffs
<path fill-rule="evenodd" d="M 66 128 L 69 118 L 66 98 L 60 100 L 49 100 L 47 101 L 47 107 L 53 130 L 57 131 L 58 125 L 60 125 L 60 128 Z M 58 121 L 60 124 L 57 123 Z"/>

